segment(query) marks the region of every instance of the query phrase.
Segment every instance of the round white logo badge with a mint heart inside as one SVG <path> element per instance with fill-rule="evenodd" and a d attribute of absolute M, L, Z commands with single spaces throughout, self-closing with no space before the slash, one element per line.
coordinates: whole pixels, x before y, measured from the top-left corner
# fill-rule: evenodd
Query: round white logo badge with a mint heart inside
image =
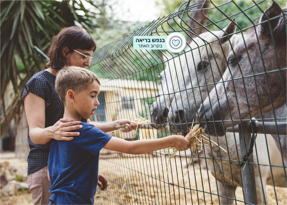
<path fill-rule="evenodd" d="M 182 34 L 175 32 L 168 35 L 166 45 L 171 52 L 178 53 L 185 48 L 186 40 Z"/>

